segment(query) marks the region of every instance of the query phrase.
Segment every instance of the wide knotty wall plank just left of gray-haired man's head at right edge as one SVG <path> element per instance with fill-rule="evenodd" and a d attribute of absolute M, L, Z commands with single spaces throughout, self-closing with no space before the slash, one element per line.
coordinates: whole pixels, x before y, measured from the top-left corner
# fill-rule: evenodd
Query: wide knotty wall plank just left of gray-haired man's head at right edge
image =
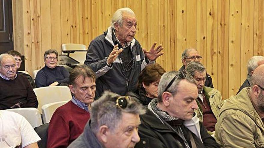
<path fill-rule="evenodd" d="M 229 3 L 229 96 L 240 87 L 241 0 Z M 235 76 L 235 77 L 234 77 Z"/>

